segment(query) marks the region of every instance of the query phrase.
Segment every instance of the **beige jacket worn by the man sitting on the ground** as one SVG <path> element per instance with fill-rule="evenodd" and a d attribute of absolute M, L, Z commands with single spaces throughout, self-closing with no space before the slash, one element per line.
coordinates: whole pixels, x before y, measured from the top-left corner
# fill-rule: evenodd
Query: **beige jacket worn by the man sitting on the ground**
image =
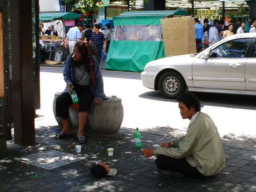
<path fill-rule="evenodd" d="M 158 147 L 153 155 L 163 154 L 173 158 L 185 158 L 205 176 L 218 173 L 225 167 L 222 142 L 212 119 L 199 112 L 190 123 L 187 134 L 173 140 L 172 148 Z"/>

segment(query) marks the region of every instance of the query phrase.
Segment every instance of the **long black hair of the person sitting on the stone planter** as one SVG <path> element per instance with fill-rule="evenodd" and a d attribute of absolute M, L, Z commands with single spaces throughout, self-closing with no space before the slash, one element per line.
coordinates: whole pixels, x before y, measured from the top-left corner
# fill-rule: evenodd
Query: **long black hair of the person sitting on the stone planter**
<path fill-rule="evenodd" d="M 72 64 L 76 64 L 76 65 L 85 65 L 86 71 L 90 71 L 90 58 L 89 58 L 89 54 L 86 48 L 86 44 L 83 41 L 78 41 L 74 48 L 77 48 L 78 52 L 80 52 L 82 60 L 80 62 L 75 62 L 72 57 L 70 57 L 71 63 Z"/>

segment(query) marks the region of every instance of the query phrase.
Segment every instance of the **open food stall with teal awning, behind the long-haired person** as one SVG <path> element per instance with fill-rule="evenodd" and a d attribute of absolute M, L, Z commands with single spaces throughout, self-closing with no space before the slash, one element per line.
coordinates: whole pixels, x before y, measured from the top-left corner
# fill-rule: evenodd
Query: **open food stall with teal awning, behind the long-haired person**
<path fill-rule="evenodd" d="M 68 13 L 41 13 L 39 14 L 39 21 L 47 28 L 53 25 L 54 30 L 57 31 L 56 35 L 42 35 L 40 42 L 45 44 L 45 50 L 48 52 L 47 61 L 48 64 L 57 64 L 61 60 L 65 60 L 70 54 L 69 49 L 64 47 L 64 41 L 66 36 L 66 30 L 75 25 L 74 20 L 80 19 L 80 15 L 68 12 Z M 71 25 L 71 26 L 67 26 Z"/>

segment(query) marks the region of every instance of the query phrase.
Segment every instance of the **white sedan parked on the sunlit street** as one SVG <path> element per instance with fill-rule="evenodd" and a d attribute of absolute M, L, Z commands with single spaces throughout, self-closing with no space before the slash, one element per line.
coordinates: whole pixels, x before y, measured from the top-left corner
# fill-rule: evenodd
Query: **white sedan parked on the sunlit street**
<path fill-rule="evenodd" d="M 198 54 L 148 62 L 143 86 L 175 99 L 185 92 L 256 95 L 256 33 L 228 36 Z"/>

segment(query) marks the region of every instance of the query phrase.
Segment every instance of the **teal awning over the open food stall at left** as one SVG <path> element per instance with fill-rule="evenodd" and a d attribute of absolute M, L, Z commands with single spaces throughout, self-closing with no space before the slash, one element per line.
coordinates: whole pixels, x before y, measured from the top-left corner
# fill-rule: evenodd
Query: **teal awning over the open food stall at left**
<path fill-rule="evenodd" d="M 80 19 L 80 14 L 68 12 L 68 13 L 40 13 L 39 21 L 54 21 L 57 19 L 60 20 L 73 20 Z"/>

